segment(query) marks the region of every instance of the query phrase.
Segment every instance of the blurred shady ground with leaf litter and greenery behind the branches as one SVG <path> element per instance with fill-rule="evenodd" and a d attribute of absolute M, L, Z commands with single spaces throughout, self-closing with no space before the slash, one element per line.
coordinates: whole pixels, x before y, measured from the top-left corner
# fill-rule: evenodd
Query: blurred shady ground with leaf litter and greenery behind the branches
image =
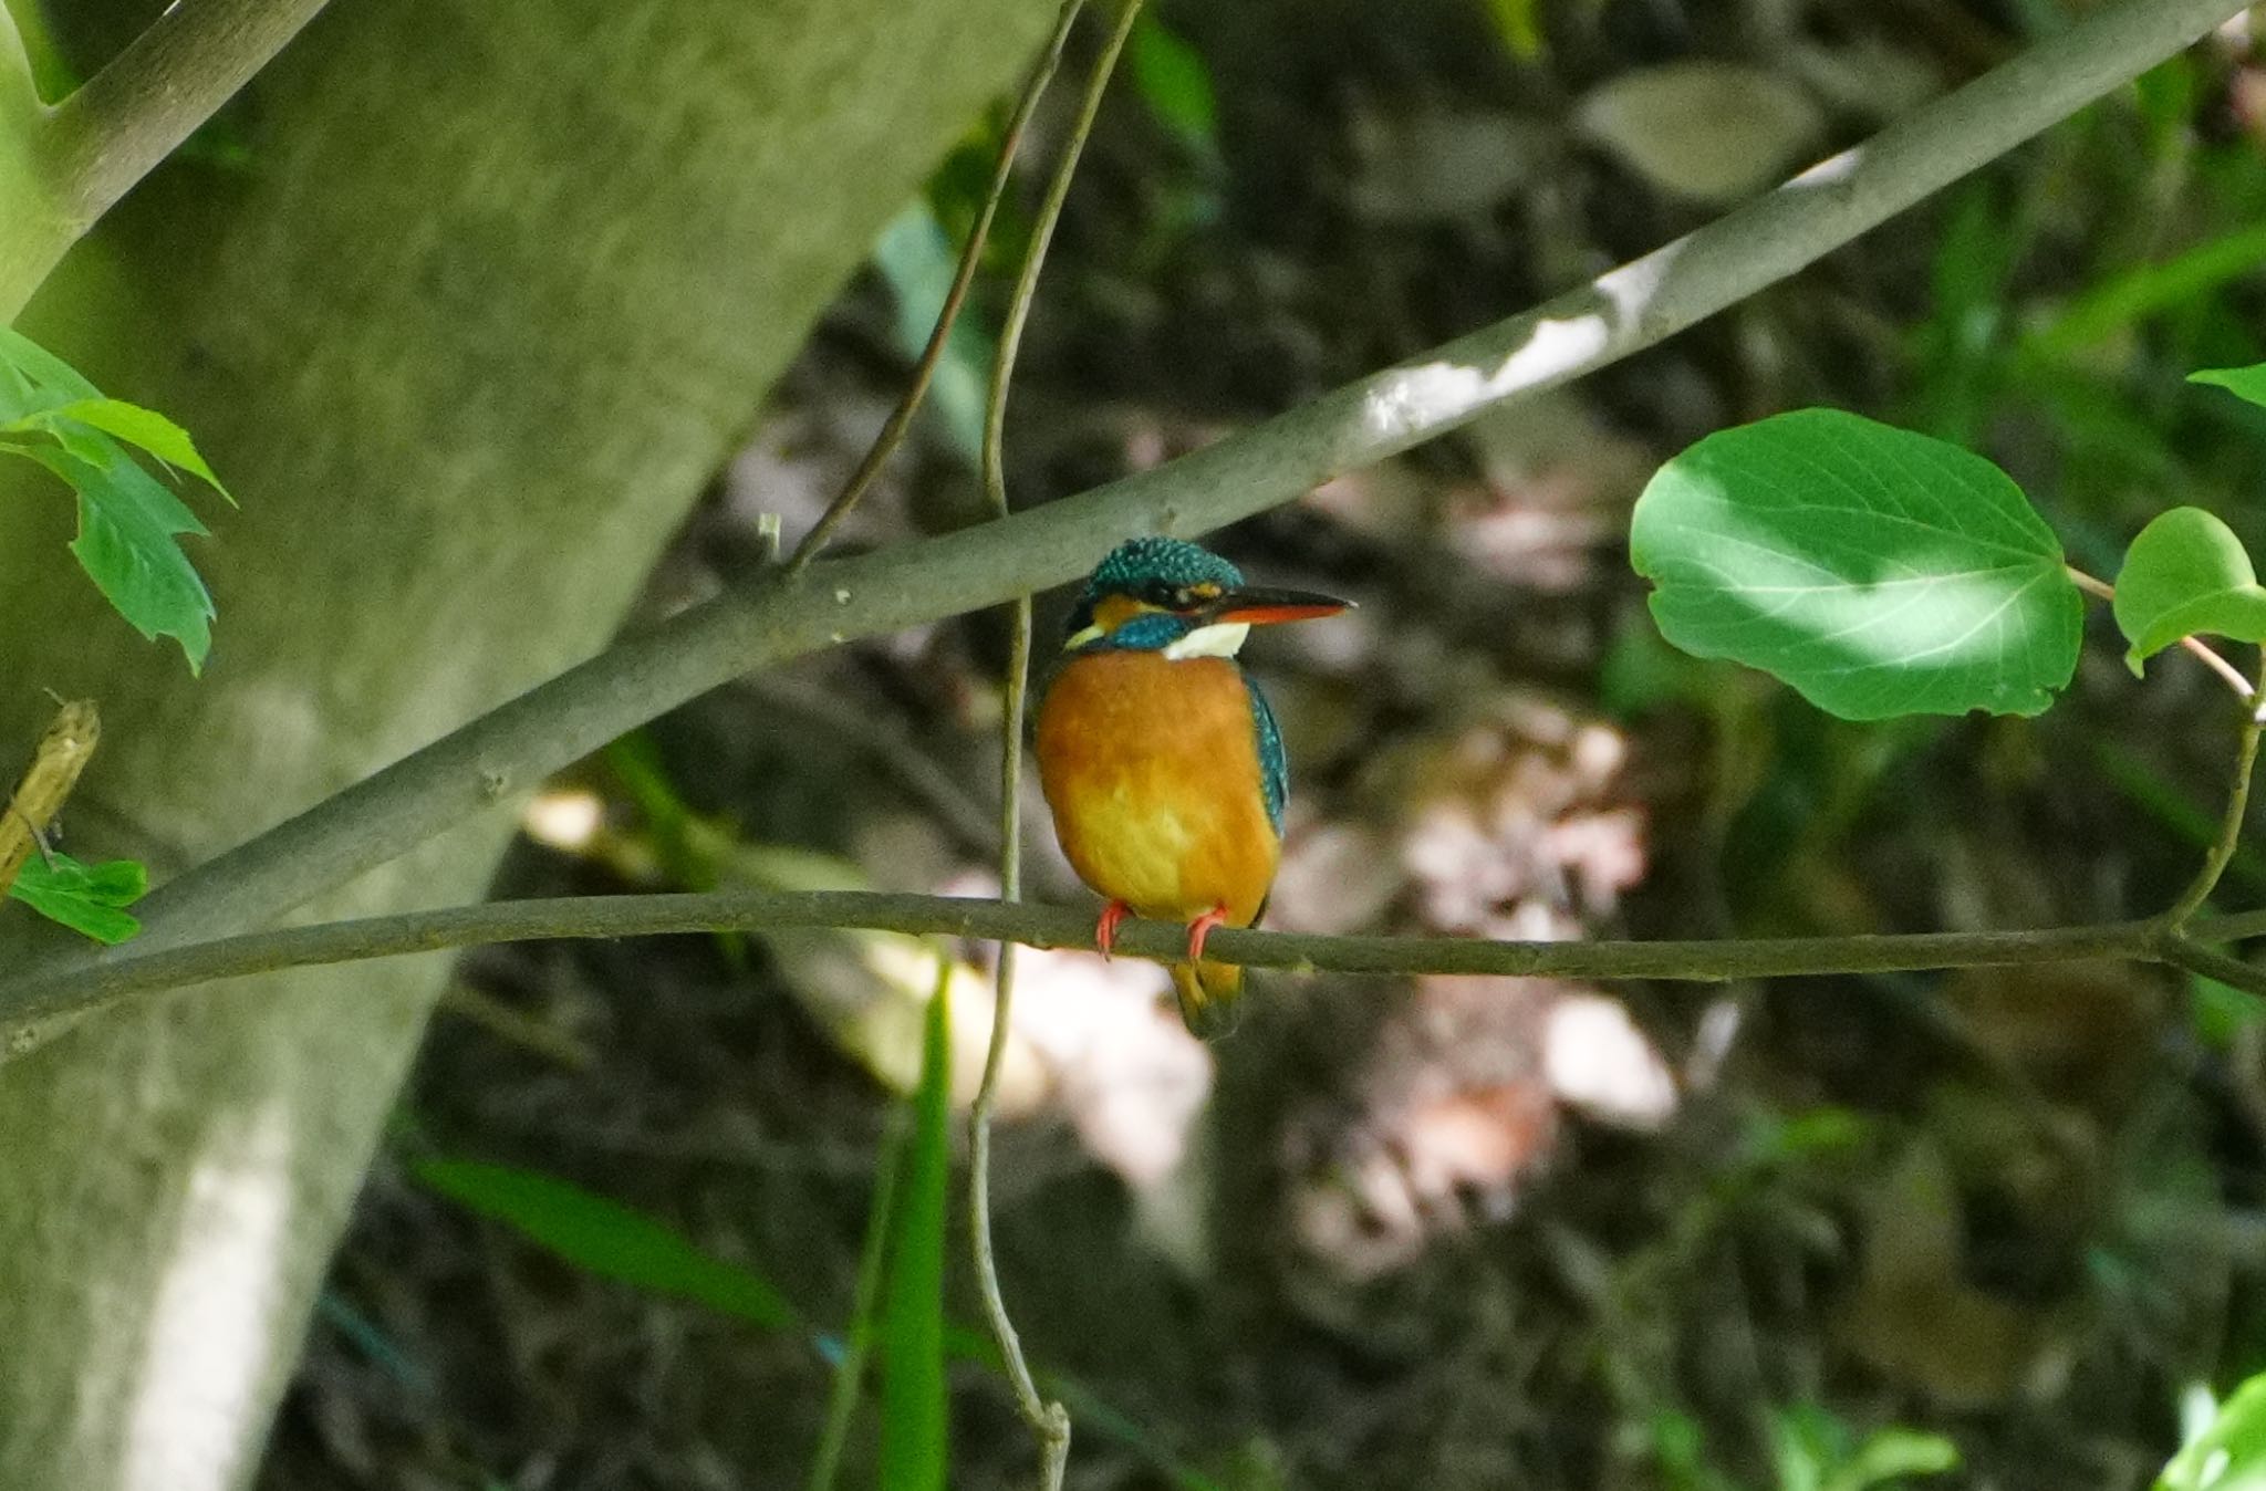
<path fill-rule="evenodd" d="M 2080 9 L 1162 0 L 1040 292 L 1015 501 L 1514 313 Z M 875 247 L 648 616 L 746 576 L 766 514 L 793 535 L 841 485 L 995 129 Z M 1992 455 L 2096 573 L 2173 503 L 2257 548 L 2266 415 L 2182 376 L 2266 358 L 2261 208 L 2266 39 L 2237 23 L 1668 347 L 1219 535 L 1264 580 L 1362 603 L 1253 646 L 1296 775 L 1271 922 L 1731 936 L 2162 906 L 2234 734 L 2200 671 L 2139 684 L 2096 616 L 2037 721 L 1838 723 L 1659 641 L 1627 510 L 1700 435 L 1829 403 Z M 1002 283 L 854 544 L 979 519 Z M 553 782 L 501 891 L 986 893 L 1004 657 L 1002 619 L 972 616 L 709 696 Z M 1031 861 L 1038 895 L 1083 904 L 1042 827 Z M 2252 847 L 2221 897 L 2261 893 Z M 959 1101 L 986 959 L 945 949 Z M 902 1183 L 938 977 L 934 947 L 877 934 L 469 959 L 263 1484 L 802 1484 L 886 1310 L 868 1224 Z M 2266 1369 L 2266 1024 L 2232 990 L 2128 965 L 1273 977 L 1215 1049 L 1160 992 L 1140 963 L 1022 963 L 1002 1273 L 1079 1418 L 1074 1486 L 2146 1486 L 2182 1412 Z M 952 1484 L 1020 1484 L 963 1262 Z M 870 1398 L 852 1423 L 843 1475 L 875 1484 Z"/>

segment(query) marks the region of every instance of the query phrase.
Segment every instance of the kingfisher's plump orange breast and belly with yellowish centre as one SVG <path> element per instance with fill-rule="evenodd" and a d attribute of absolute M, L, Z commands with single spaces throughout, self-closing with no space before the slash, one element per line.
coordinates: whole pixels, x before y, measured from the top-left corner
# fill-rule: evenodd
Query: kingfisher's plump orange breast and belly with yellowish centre
<path fill-rule="evenodd" d="M 1242 668 L 1090 653 L 1038 709 L 1038 775 L 1079 877 L 1156 920 L 1226 906 L 1249 927 L 1280 843 L 1260 793 Z"/>

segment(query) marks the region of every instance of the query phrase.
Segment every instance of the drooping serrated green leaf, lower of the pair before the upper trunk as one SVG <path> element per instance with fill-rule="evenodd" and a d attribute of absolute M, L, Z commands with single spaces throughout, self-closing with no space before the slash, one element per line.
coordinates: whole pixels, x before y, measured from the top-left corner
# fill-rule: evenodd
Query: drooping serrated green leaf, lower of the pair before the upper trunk
<path fill-rule="evenodd" d="M 202 535 L 204 523 L 116 442 L 102 440 L 102 465 L 61 449 L 27 455 L 79 494 L 79 537 L 70 542 L 79 566 L 136 632 L 177 639 L 195 673 L 213 646 L 213 596 L 174 535 Z"/>

